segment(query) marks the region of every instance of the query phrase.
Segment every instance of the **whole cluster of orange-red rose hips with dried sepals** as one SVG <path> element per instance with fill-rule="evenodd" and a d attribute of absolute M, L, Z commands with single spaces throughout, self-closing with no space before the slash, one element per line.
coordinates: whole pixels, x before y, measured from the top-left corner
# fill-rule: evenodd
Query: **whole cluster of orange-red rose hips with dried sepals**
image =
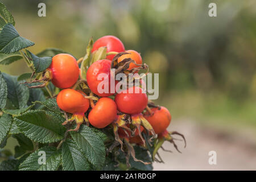
<path fill-rule="evenodd" d="M 123 43 L 115 36 L 104 36 L 98 39 L 93 44 L 92 54 L 101 47 L 106 47 L 107 52 L 114 53 L 88 65 L 84 81 L 81 79 L 79 64 L 75 57 L 65 53 L 52 57 L 52 63 L 45 75 L 53 85 L 62 89 L 56 98 L 57 105 L 61 110 L 72 114 L 72 117 L 67 118 L 63 125 L 75 121 L 76 127 L 71 129 L 73 131 L 78 131 L 82 123 L 98 129 L 113 127 L 115 140 L 121 144 L 121 150 L 125 143 L 126 148 L 131 149 L 130 154 L 134 160 L 137 159 L 133 154 L 131 143 L 146 146 L 142 133 L 147 134 L 149 143 L 156 138 L 156 134 L 158 135 L 154 143 L 154 156 L 162 147 L 164 140 L 170 141 L 176 147 L 171 135 L 181 134 L 167 131 L 171 122 L 170 112 L 166 107 L 155 106 L 152 102 L 148 102 L 147 94 L 142 92 L 141 85 L 130 86 L 127 92 L 111 93 L 110 86 L 108 93 L 98 92 L 101 81 L 97 77 L 101 73 L 108 75 L 110 85 L 110 77 L 113 76 L 111 68 L 122 68 L 119 70 L 134 74 L 144 68 L 140 53 L 134 50 L 125 51 Z M 142 80 L 140 83 L 142 84 Z M 87 86 L 87 91 L 84 92 L 82 86 L 77 89 L 77 86 L 74 86 L 77 84 Z M 139 92 L 130 92 L 135 89 Z M 113 144 L 113 147 L 115 146 L 117 145 Z"/>

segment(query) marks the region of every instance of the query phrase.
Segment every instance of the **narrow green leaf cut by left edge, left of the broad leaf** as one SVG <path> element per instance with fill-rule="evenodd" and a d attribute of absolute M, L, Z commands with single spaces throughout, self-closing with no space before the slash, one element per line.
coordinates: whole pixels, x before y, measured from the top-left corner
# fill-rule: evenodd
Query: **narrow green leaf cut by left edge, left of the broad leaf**
<path fill-rule="evenodd" d="M 0 143 L 5 140 L 6 135 L 9 133 L 13 117 L 9 114 L 3 114 L 0 118 Z"/>

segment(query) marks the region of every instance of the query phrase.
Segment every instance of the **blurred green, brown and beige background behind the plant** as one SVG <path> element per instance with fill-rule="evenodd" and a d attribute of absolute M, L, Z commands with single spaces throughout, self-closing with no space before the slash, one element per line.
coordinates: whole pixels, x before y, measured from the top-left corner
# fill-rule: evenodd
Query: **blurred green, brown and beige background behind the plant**
<path fill-rule="evenodd" d="M 169 130 L 187 138 L 183 154 L 170 143 L 154 169 L 256 169 L 256 1 L 255 0 L 2 0 L 21 36 L 47 47 L 84 56 L 86 45 L 115 35 L 126 49 L 141 52 L 159 73 L 156 104 L 170 109 Z M 38 3 L 46 3 L 46 17 Z M 208 5 L 217 4 L 210 18 Z M 2 72 L 28 72 L 22 60 Z M 11 146 L 7 146 L 11 147 Z M 208 152 L 217 152 L 209 165 Z"/>

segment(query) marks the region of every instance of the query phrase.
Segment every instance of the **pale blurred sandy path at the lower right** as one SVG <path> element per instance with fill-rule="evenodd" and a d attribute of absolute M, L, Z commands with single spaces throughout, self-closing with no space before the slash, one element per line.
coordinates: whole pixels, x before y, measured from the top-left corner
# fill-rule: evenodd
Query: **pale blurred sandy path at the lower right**
<path fill-rule="evenodd" d="M 174 153 L 159 152 L 165 164 L 154 164 L 154 170 L 255 170 L 256 134 L 250 129 L 226 131 L 202 126 L 188 119 L 172 123 L 171 130 L 185 134 L 187 148 L 177 141 L 183 154 L 165 142 L 164 148 Z M 171 131 L 170 130 L 170 131 Z M 208 163 L 209 151 L 217 152 L 217 164 Z"/>

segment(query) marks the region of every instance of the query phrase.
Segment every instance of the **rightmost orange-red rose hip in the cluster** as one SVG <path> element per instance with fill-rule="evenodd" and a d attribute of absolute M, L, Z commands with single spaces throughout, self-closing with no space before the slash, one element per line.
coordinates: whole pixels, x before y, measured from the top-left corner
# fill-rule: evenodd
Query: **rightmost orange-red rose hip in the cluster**
<path fill-rule="evenodd" d="M 168 109 L 163 106 L 154 107 L 151 109 L 151 111 L 152 115 L 147 111 L 143 114 L 144 118 L 146 118 L 150 125 L 153 127 L 156 134 L 162 133 L 171 123 L 171 114 Z"/>

